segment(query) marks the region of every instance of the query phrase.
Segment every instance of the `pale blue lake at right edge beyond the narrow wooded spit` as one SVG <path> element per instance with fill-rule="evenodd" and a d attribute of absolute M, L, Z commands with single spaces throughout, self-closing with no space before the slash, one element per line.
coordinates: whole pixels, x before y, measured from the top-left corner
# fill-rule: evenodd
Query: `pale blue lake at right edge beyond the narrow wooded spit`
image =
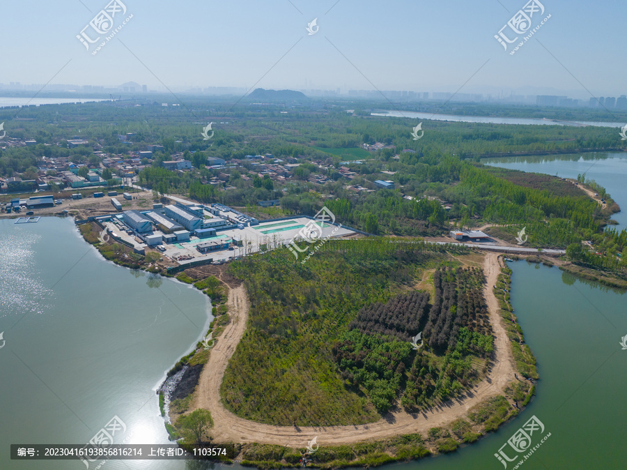
<path fill-rule="evenodd" d="M 562 178 L 577 178 L 586 174 L 610 193 L 621 212 L 612 215 L 619 222 L 619 230 L 627 228 L 627 153 L 573 153 L 533 157 L 485 158 L 486 165 L 520 169 L 523 172 L 543 173 Z"/>

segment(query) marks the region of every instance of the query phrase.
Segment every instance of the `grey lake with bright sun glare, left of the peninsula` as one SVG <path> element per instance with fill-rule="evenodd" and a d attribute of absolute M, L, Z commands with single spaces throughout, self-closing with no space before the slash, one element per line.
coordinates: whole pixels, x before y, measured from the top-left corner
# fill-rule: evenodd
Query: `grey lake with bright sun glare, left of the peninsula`
<path fill-rule="evenodd" d="M 114 416 L 127 427 L 118 444 L 168 444 L 155 389 L 206 333 L 208 297 L 104 260 L 70 218 L 13 222 L 0 220 L 0 469 L 85 469 L 11 461 L 9 444 L 86 444 Z"/>

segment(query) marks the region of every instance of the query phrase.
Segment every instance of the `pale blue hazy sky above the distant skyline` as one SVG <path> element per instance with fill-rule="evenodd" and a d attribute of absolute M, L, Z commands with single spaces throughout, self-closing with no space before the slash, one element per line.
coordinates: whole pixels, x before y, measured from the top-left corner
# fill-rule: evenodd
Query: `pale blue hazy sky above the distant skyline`
<path fill-rule="evenodd" d="M 76 36 L 107 0 L 2 2 L 0 82 L 627 94 L 624 1 L 542 0 L 532 27 L 550 20 L 514 55 L 494 36 L 525 0 L 123 3 L 92 55 Z"/>

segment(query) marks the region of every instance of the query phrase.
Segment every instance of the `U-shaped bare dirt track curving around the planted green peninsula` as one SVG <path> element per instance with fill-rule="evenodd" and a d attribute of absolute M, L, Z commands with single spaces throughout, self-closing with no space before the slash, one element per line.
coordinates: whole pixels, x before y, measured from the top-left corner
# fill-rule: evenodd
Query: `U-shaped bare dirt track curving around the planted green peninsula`
<path fill-rule="evenodd" d="M 502 393 L 505 386 L 514 380 L 513 356 L 505 328 L 499 314 L 497 298 L 493 294 L 500 273 L 498 255 L 488 253 L 483 262 L 486 274 L 485 296 L 490 313 L 490 322 L 495 333 L 495 361 L 488 377 L 472 388 L 465 396 L 449 400 L 440 407 L 409 414 L 403 409 L 389 413 L 376 423 L 350 426 L 295 427 L 274 426 L 245 420 L 224 408 L 220 401 L 219 388 L 224 371 L 235 347 L 244 334 L 248 319 L 249 303 L 244 285 L 229 291 L 229 323 L 211 350 L 209 361 L 203 368 L 191 409 L 204 408 L 211 411 L 214 427 L 211 436 L 218 442 L 257 442 L 279 444 L 290 447 L 306 447 L 307 441 L 318 437 L 322 446 L 353 444 L 359 441 L 379 440 L 398 434 L 425 433 L 431 427 L 444 426 L 465 416 L 470 408 L 488 397 Z"/>

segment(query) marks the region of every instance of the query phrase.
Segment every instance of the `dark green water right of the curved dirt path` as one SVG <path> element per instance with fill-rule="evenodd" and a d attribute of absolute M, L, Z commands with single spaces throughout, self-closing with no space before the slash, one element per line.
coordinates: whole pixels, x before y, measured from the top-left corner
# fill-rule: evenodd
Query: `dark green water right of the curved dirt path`
<path fill-rule="evenodd" d="M 511 301 L 538 361 L 536 397 L 520 416 L 471 446 L 390 468 L 504 469 L 494 454 L 534 415 L 551 437 L 519 469 L 625 467 L 627 350 L 619 344 L 627 335 L 625 294 L 557 268 L 525 261 L 510 266 Z"/>

